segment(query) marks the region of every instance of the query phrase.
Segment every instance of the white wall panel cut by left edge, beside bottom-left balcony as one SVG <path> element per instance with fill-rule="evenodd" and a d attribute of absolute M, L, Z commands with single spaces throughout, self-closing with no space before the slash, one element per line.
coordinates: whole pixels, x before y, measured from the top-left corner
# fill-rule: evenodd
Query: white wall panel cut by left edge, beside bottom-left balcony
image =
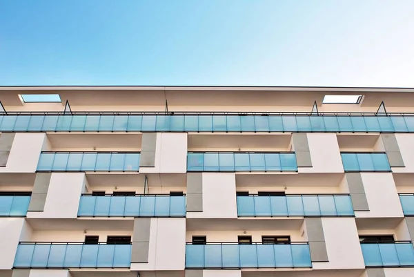
<path fill-rule="evenodd" d="M 0 218 L 0 269 L 12 269 L 24 218 Z"/>

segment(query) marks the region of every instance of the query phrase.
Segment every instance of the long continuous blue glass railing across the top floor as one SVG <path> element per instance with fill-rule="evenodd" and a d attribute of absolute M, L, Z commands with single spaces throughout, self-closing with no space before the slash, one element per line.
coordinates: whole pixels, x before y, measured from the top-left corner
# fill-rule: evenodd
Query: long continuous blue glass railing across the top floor
<path fill-rule="evenodd" d="M 0 131 L 414 132 L 414 115 L 375 113 L 8 113 Z"/>

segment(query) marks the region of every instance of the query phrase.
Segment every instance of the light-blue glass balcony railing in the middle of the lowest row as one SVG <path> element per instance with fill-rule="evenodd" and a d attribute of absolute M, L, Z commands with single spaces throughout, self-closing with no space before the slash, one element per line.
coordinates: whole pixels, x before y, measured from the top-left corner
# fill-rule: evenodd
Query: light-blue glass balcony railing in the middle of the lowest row
<path fill-rule="evenodd" d="M 186 245 L 186 269 L 239 269 L 259 267 L 312 267 L 307 242 L 250 245 L 237 242 L 210 242 Z"/>

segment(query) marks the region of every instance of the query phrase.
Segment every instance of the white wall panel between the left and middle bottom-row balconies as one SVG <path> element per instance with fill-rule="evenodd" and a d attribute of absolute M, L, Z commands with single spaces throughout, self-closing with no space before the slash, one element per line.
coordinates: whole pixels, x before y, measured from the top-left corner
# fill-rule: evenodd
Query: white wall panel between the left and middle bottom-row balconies
<path fill-rule="evenodd" d="M 186 219 L 151 218 L 148 263 L 131 263 L 131 270 L 184 270 Z"/>

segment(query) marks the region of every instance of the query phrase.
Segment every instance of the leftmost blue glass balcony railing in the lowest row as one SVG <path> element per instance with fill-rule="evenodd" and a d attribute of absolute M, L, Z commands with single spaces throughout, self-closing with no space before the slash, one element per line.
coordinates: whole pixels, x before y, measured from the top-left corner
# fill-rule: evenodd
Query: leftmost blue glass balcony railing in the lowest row
<path fill-rule="evenodd" d="M 130 244 L 83 242 L 20 242 L 13 267 L 130 267 Z"/>

